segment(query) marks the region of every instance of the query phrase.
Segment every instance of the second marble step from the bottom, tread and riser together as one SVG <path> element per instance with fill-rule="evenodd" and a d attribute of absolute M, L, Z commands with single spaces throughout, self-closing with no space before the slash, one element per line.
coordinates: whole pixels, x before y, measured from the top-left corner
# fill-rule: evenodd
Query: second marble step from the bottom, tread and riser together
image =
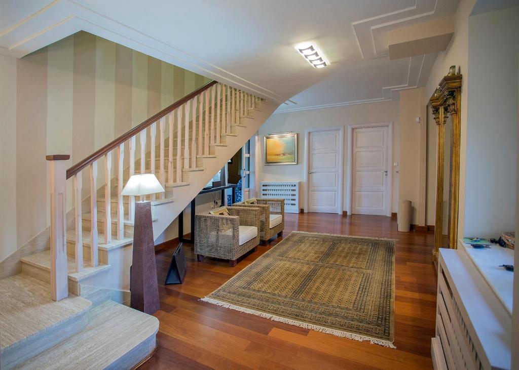
<path fill-rule="evenodd" d="M 91 305 L 75 295 L 52 301 L 50 285 L 27 274 L 0 280 L 0 368 L 16 367 L 69 340 L 87 325 Z"/>

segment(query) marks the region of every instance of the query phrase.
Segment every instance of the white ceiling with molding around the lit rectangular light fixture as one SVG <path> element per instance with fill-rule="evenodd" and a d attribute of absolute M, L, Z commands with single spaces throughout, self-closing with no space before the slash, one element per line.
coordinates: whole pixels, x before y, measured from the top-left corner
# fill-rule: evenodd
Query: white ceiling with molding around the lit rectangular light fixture
<path fill-rule="evenodd" d="M 0 53 L 87 31 L 287 102 L 278 110 L 386 101 L 424 86 L 435 54 L 390 61 L 388 31 L 453 15 L 459 0 L 0 0 Z M 293 48 L 314 40 L 312 68 Z"/>

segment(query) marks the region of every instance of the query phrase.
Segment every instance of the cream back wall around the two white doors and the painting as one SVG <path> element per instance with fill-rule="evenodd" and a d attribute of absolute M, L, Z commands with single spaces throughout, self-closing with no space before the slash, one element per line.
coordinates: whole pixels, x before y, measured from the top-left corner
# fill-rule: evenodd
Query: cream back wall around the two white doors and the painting
<path fill-rule="evenodd" d="M 306 184 L 304 183 L 304 148 L 305 130 L 316 127 L 338 127 L 348 124 L 393 122 L 393 162 L 399 162 L 399 102 L 381 102 L 345 107 L 324 108 L 315 110 L 304 110 L 289 113 L 277 113 L 272 115 L 260 128 L 261 153 L 260 168 L 258 168 L 259 181 L 301 181 L 301 204 L 303 208 L 303 194 Z M 296 165 L 264 165 L 264 136 L 269 133 L 281 132 L 298 133 L 298 164 Z M 345 130 L 347 135 L 347 130 Z M 343 210 L 346 210 L 346 165 L 348 156 L 348 139 L 344 140 L 344 200 Z M 393 168 L 395 170 L 396 168 Z M 397 211 L 398 203 L 398 174 L 393 173 L 393 212 Z"/>

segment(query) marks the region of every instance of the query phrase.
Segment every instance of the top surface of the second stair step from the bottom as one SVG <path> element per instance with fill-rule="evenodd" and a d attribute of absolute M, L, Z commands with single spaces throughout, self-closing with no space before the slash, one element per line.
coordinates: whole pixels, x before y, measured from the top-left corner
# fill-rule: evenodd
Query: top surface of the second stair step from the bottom
<path fill-rule="evenodd" d="M 64 300 L 52 301 L 49 284 L 25 274 L 0 280 L 2 351 L 15 350 L 17 343 L 81 315 L 90 306 L 90 301 L 72 294 Z"/>

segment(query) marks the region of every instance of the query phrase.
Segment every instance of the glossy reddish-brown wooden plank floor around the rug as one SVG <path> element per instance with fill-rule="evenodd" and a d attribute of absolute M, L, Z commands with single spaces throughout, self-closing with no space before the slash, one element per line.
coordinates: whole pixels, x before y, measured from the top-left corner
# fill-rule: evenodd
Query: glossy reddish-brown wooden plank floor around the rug
<path fill-rule="evenodd" d="M 399 233 L 397 221 L 383 216 L 287 214 L 284 235 L 292 230 L 398 239 L 396 254 L 395 340 L 397 349 L 339 338 L 200 302 L 282 238 L 271 241 L 229 267 L 227 262 L 196 262 L 185 245 L 183 284 L 159 286 L 158 350 L 142 369 L 421 369 L 432 368 L 436 275 L 432 234 Z M 157 252 L 164 281 L 171 250 Z"/>

